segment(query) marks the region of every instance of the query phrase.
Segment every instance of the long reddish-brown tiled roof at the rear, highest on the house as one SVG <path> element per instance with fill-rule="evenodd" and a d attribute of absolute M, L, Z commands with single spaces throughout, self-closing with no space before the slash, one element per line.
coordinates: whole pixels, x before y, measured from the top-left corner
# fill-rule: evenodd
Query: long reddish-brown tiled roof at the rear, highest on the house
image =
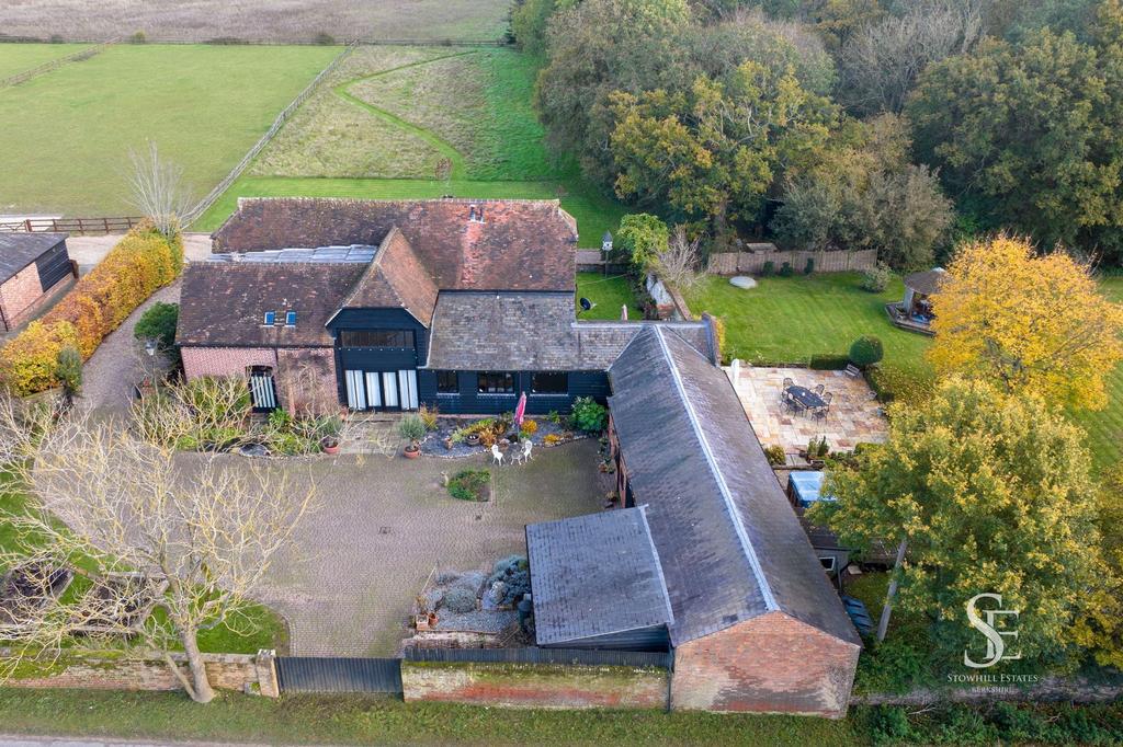
<path fill-rule="evenodd" d="M 212 239 L 214 251 L 380 245 L 395 225 L 441 289 L 575 287 L 577 225 L 556 200 L 243 199 Z"/>

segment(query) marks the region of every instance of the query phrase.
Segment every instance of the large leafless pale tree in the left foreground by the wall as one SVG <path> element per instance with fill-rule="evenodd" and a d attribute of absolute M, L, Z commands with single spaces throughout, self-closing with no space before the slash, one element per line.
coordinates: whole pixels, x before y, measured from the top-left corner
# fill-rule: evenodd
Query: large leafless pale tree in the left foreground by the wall
<path fill-rule="evenodd" d="M 163 654 L 193 700 L 211 700 L 199 633 L 246 624 L 248 594 L 311 509 L 311 477 L 293 486 L 286 472 L 256 462 L 176 457 L 119 421 L 79 413 L 56 422 L 39 417 L 27 427 L 18 415 L 10 403 L 0 405 L 0 448 L 15 457 L 16 478 L 2 489 L 31 499 L 4 516 L 17 540 L 0 553 L 0 568 L 25 569 L 33 591 L 35 579 L 44 579 L 30 602 L 49 597 L 48 580 L 63 566 L 84 569 L 97 593 L 9 606 L 0 640 L 18 640 L 18 652 L 28 655 L 57 652 L 92 622 L 110 635 L 127 630 Z M 109 581 L 122 570 L 144 583 Z M 165 614 L 140 627 L 127 624 L 146 589 Z M 172 657 L 179 648 L 186 674 Z"/>

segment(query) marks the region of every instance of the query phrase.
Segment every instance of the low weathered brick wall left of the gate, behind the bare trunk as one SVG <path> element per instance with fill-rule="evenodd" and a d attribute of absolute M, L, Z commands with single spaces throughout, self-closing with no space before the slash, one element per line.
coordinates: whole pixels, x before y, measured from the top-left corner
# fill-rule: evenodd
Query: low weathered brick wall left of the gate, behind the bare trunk
<path fill-rule="evenodd" d="M 188 667 L 182 655 L 174 655 L 181 672 Z M 203 654 L 211 685 L 268 698 L 280 694 L 275 654 Z M 21 665 L 26 666 L 26 665 Z M 106 656 L 92 653 L 66 661 L 44 663 L 47 672 L 18 674 L 4 682 L 9 688 L 77 688 L 84 690 L 181 690 L 180 682 L 158 655 Z M 189 677 L 190 679 L 190 677 Z"/>

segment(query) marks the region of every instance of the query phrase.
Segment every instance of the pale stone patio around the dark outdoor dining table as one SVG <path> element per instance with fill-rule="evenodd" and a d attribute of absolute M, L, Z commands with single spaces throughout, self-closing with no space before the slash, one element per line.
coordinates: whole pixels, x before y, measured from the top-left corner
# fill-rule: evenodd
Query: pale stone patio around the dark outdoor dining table
<path fill-rule="evenodd" d="M 733 368 L 725 368 L 733 379 Z M 796 415 L 784 409 L 780 393 L 784 379 L 813 389 L 822 384 L 834 394 L 831 408 L 822 421 L 807 415 Z M 733 381 L 752 430 L 765 446 L 779 444 L 793 454 L 806 448 L 811 439 L 827 436 L 832 450 L 849 451 L 859 443 L 885 441 L 888 425 L 878 413 L 866 380 L 850 377 L 843 371 L 815 371 L 807 368 L 752 368 L 740 365 Z"/>

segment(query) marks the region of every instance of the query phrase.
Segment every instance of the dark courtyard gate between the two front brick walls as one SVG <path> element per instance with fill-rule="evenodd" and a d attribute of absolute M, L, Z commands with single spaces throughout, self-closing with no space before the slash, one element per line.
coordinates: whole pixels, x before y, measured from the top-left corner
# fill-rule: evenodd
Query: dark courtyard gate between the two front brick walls
<path fill-rule="evenodd" d="M 281 692 L 385 692 L 402 694 L 396 658 L 279 656 Z"/>

